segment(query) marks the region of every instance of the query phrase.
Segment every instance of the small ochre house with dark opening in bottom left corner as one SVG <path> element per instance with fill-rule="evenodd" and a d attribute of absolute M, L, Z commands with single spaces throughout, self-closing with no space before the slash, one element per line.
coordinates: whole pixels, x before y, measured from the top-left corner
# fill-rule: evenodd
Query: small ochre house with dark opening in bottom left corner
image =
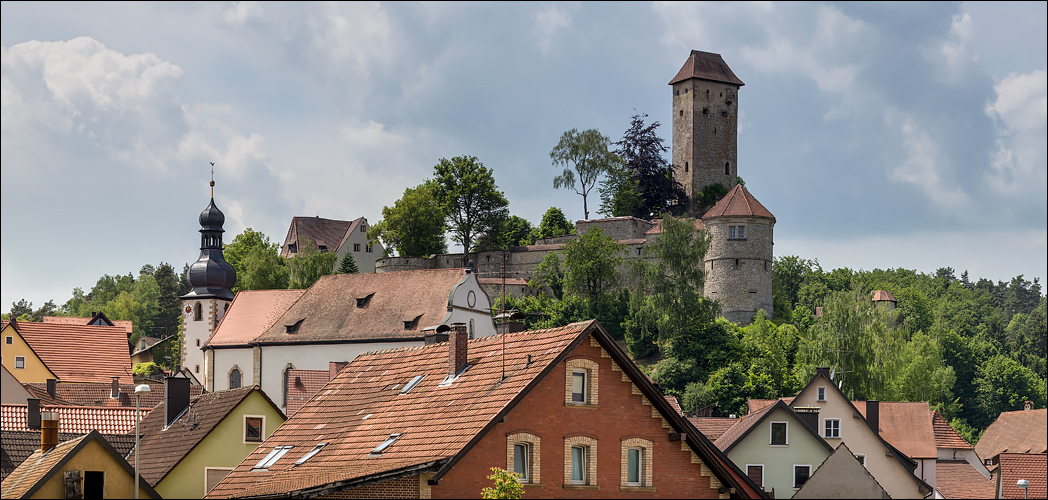
<path fill-rule="evenodd" d="M 47 452 L 38 450 L 4 478 L 0 493 L 3 498 L 132 498 L 134 469 L 91 431 Z M 160 498 L 146 481 L 139 482 L 138 494 Z"/>

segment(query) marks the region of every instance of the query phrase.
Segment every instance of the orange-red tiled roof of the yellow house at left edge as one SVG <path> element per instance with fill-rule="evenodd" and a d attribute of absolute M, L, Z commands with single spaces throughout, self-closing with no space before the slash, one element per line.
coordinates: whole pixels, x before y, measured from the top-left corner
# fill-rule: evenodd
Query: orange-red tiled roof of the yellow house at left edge
<path fill-rule="evenodd" d="M 131 355 L 124 327 L 14 322 L 12 327 L 40 361 L 63 382 L 131 378 Z"/>

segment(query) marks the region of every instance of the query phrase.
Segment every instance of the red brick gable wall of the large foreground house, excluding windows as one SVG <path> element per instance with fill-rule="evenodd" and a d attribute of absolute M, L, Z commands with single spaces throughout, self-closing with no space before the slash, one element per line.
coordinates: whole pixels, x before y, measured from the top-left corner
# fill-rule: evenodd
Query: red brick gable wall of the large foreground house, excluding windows
<path fill-rule="evenodd" d="M 568 360 L 595 361 L 599 384 L 598 405 L 565 404 L 567 362 L 554 367 L 539 385 L 496 425 L 470 454 L 432 486 L 433 498 L 476 498 L 485 486 L 493 466 L 509 468 L 511 450 L 507 437 L 531 434 L 541 438 L 532 464 L 539 468 L 538 484 L 524 485 L 525 498 L 717 498 L 720 482 L 714 478 L 684 441 L 669 440 L 669 425 L 640 394 L 611 358 L 590 340 L 585 340 Z M 565 487 L 565 463 L 570 458 L 569 440 L 595 439 L 594 484 Z M 651 442 L 654 466 L 652 486 L 620 488 L 623 442 Z M 538 448 L 538 447 L 536 447 Z M 647 476 L 647 475 L 646 475 Z M 647 480 L 647 478 L 646 478 Z M 595 487 L 593 487 L 595 486 Z"/>

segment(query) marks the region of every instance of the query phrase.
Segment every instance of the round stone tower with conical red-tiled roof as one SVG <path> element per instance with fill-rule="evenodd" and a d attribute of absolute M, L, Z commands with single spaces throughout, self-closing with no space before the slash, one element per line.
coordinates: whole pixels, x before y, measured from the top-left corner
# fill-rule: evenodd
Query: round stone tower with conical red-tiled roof
<path fill-rule="evenodd" d="M 774 317 L 771 300 L 772 231 L 776 217 L 749 191 L 736 186 L 702 216 L 709 251 L 704 266 L 707 299 L 721 314 L 748 324 L 759 309 Z"/>

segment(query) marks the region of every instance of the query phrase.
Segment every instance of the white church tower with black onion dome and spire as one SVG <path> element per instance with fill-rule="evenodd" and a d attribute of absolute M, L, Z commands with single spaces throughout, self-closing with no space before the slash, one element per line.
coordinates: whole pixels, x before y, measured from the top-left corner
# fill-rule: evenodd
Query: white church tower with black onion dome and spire
<path fill-rule="evenodd" d="M 215 181 L 211 181 L 211 204 L 200 213 L 200 258 L 187 273 L 193 290 L 182 300 L 182 367 L 197 378 L 205 378 L 201 347 L 218 326 L 233 302 L 237 271 L 222 257 L 222 224 L 225 215 L 215 206 Z"/>

